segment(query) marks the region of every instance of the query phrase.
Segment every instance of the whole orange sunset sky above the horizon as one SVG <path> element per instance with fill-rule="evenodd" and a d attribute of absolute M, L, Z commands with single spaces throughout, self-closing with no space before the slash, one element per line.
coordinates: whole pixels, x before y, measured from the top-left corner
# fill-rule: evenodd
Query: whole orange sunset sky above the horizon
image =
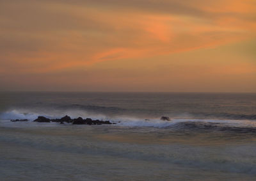
<path fill-rule="evenodd" d="M 0 0 L 0 85 L 256 92 L 256 1 Z"/>

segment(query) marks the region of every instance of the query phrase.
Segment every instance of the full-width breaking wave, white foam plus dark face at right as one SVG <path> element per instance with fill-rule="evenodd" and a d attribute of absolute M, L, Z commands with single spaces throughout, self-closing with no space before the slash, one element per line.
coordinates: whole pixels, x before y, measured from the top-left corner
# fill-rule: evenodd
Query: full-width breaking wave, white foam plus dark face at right
<path fill-rule="evenodd" d="M 31 113 L 26 110 L 12 110 L 0 113 L 0 120 L 28 119 L 35 120 L 38 116 L 46 118 L 61 118 L 65 115 L 71 118 L 92 118 L 97 120 L 109 120 L 122 127 L 155 127 L 172 129 L 175 131 L 220 131 L 220 132 L 251 132 L 256 133 L 256 121 L 253 120 L 216 120 L 216 119 L 195 119 L 195 118 L 172 118 L 171 122 L 160 120 L 159 118 L 142 119 L 132 116 L 113 116 L 108 117 L 104 114 L 92 114 L 84 111 L 60 111 L 52 113 Z"/>

